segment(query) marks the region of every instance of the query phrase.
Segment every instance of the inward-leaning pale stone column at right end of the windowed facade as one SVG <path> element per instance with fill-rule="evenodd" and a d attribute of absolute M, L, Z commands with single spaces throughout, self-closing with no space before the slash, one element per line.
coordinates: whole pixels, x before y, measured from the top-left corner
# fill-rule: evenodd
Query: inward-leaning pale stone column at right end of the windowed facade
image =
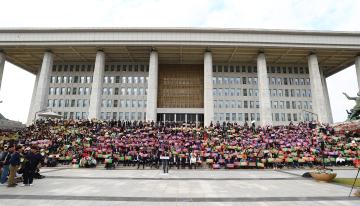
<path fill-rule="evenodd" d="M 318 116 L 318 120 L 321 123 L 329 123 L 329 111 L 326 107 L 324 88 L 316 54 L 311 54 L 309 56 L 308 65 L 311 84 L 312 111 Z"/>

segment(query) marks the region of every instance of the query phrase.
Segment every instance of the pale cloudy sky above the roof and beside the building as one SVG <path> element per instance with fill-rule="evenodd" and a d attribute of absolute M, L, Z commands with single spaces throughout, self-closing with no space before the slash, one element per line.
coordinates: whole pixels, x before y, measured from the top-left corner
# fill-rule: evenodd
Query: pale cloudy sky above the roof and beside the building
<path fill-rule="evenodd" d="M 360 31 L 358 0 L 11 0 L 0 27 L 220 27 Z M 35 76 L 6 62 L 0 113 L 27 120 Z M 354 106 L 355 67 L 327 78 L 334 122 Z"/>

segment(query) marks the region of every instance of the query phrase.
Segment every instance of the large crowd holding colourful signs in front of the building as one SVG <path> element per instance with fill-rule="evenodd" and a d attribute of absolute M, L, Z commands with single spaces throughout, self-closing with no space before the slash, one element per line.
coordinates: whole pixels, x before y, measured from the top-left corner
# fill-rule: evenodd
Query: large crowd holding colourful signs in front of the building
<path fill-rule="evenodd" d="M 10 134 L 9 134 L 10 135 Z M 0 144 L 1 183 L 16 172 L 31 185 L 40 165 L 105 168 L 281 168 L 352 165 L 360 156 L 356 134 L 335 135 L 327 125 L 299 123 L 193 125 L 100 120 L 38 120 Z M 166 161 L 162 161 L 166 159 Z M 20 168 L 20 169 L 19 169 Z"/>

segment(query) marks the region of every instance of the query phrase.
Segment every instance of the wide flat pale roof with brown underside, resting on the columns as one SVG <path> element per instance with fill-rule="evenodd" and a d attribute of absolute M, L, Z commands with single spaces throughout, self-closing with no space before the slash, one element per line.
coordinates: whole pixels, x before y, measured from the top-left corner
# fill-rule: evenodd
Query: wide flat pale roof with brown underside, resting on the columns
<path fill-rule="evenodd" d="M 211 50 L 214 64 L 255 64 L 266 54 L 268 65 L 307 65 L 316 53 L 330 76 L 354 64 L 360 32 L 224 28 L 1 28 L 0 50 L 7 60 L 36 73 L 45 51 L 55 63 L 93 63 L 97 50 L 107 62 L 147 63 L 159 52 L 160 64 L 202 64 Z"/>

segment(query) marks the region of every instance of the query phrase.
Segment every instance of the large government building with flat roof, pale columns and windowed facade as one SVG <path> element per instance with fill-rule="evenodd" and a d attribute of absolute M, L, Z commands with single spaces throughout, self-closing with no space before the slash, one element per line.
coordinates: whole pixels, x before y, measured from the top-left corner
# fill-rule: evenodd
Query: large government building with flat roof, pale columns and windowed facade
<path fill-rule="evenodd" d="M 27 124 L 45 110 L 205 126 L 331 123 L 325 80 L 355 64 L 360 87 L 359 55 L 357 32 L 2 28 L 0 84 L 5 61 L 36 75 Z"/>

